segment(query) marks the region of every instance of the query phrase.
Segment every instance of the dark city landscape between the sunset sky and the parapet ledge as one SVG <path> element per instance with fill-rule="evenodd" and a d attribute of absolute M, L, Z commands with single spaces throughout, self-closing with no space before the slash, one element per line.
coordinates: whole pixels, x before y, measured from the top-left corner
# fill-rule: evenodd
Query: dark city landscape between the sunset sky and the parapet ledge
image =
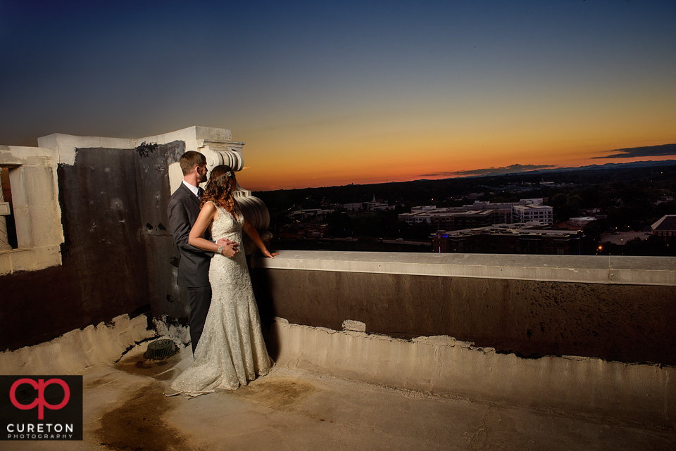
<path fill-rule="evenodd" d="M 256 196 L 279 249 L 676 255 L 675 191 L 667 161 Z"/>

